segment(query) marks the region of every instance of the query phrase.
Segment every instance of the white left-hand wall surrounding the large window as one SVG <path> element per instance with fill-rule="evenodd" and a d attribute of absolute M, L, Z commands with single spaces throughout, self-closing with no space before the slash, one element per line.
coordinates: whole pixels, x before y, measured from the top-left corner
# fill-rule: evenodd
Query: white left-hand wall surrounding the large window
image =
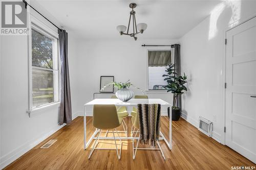
<path fill-rule="evenodd" d="M 49 25 L 48 22 L 45 22 Z M 51 25 L 49 27 L 52 27 Z M 70 75 L 75 72 L 75 40 L 69 34 Z M 1 36 L 0 169 L 23 155 L 62 126 L 59 105 L 28 110 L 28 37 Z M 71 88 L 74 86 L 71 85 Z"/>

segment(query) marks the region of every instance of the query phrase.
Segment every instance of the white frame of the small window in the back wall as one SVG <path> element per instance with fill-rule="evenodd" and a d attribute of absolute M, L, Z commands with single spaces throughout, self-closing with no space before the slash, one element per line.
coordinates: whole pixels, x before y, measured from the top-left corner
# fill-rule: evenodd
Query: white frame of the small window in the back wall
<path fill-rule="evenodd" d="M 171 61 L 174 61 L 174 48 L 170 47 L 170 46 L 151 46 L 151 47 L 146 47 L 146 91 L 167 91 L 165 89 L 159 89 L 159 90 L 153 90 L 153 89 L 149 89 L 149 78 L 148 78 L 148 52 L 149 51 L 170 51 L 171 54 Z"/>

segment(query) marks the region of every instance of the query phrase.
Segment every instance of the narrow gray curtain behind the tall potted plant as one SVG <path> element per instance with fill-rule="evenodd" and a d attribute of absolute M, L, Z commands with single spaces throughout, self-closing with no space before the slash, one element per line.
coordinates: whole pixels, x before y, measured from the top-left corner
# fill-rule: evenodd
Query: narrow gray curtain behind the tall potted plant
<path fill-rule="evenodd" d="M 181 68 L 180 68 L 180 44 L 174 44 L 174 64 L 175 64 L 175 72 L 177 72 L 178 76 L 181 76 Z M 176 107 L 179 107 L 181 110 L 181 95 L 177 96 Z"/>

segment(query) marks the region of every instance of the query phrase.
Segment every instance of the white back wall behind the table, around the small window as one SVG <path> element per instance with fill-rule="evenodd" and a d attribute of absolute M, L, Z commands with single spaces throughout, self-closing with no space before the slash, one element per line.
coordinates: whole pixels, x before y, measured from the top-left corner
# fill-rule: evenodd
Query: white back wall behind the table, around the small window
<path fill-rule="evenodd" d="M 117 32 L 118 34 L 118 32 Z M 146 90 L 146 48 L 142 44 L 174 44 L 177 40 L 134 41 L 131 37 L 118 40 L 79 40 L 77 46 L 77 82 L 73 90 L 73 114 L 82 115 L 82 105 L 93 100 L 93 93 L 99 92 L 100 76 L 115 76 L 115 81 L 131 82 Z M 139 90 L 135 94 L 141 94 Z M 150 98 L 161 98 L 172 102 L 172 94 L 147 92 Z M 166 111 L 166 109 L 163 109 Z M 89 110 L 90 112 L 92 110 Z M 91 114 L 91 113 L 90 113 Z"/>

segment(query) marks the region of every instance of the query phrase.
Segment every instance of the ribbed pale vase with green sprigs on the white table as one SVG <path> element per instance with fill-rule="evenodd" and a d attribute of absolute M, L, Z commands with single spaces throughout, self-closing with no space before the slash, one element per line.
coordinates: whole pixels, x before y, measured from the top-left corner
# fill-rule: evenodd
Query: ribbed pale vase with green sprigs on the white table
<path fill-rule="evenodd" d="M 130 99 L 132 99 L 133 95 L 134 95 L 134 92 L 132 90 L 130 90 L 129 87 L 135 86 L 129 81 L 130 80 L 127 80 L 126 82 L 110 82 L 109 84 L 105 85 L 102 89 L 100 89 L 100 91 L 103 90 L 106 86 L 114 85 L 114 87 L 116 87 L 118 89 L 116 91 L 116 97 L 123 102 L 127 102 Z M 139 89 L 143 93 L 143 91 L 140 88 L 138 88 L 138 87 L 136 87 L 136 88 Z"/>

